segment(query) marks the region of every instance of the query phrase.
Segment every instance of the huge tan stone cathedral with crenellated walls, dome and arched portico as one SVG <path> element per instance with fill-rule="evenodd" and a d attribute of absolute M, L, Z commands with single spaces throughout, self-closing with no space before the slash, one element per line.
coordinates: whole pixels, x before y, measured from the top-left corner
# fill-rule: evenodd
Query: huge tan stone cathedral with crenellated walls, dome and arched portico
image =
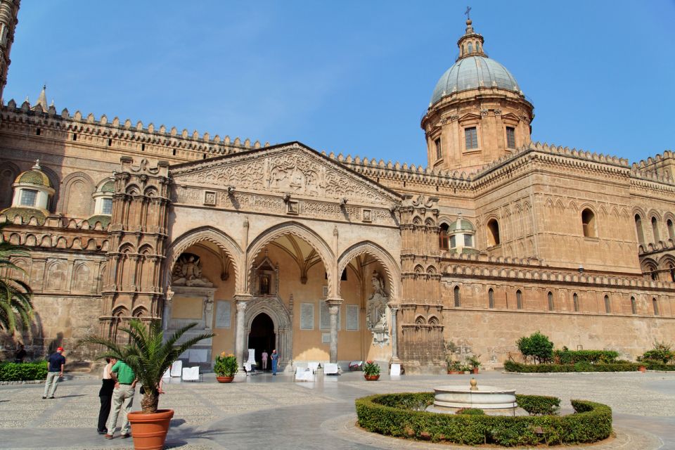
<path fill-rule="evenodd" d="M 18 9 L 0 0 L 2 88 Z M 205 369 L 277 349 L 286 371 L 428 373 L 446 347 L 500 367 L 537 330 L 625 359 L 674 342 L 675 155 L 532 142 L 522 87 L 471 20 L 457 31 L 420 123 L 426 167 L 58 111 L 45 89 L 3 102 L 0 221 L 35 307 L 4 343 L 86 364 L 85 335 L 196 322 L 215 337 L 182 359 Z"/>

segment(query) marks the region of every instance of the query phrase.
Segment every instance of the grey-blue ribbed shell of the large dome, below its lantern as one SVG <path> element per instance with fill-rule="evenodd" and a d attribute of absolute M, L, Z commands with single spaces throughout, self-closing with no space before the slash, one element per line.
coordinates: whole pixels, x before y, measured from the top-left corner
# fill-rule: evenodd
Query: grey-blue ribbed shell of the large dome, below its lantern
<path fill-rule="evenodd" d="M 436 103 L 453 92 L 479 87 L 499 87 L 520 92 L 511 72 L 487 56 L 466 56 L 458 60 L 438 80 L 431 103 Z"/>

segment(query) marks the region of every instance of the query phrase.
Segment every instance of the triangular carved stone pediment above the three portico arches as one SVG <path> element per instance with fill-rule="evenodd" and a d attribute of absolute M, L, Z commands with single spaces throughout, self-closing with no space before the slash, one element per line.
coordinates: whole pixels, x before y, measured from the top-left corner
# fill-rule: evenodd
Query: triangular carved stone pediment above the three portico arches
<path fill-rule="evenodd" d="M 294 142 L 170 169 L 174 182 L 236 191 L 290 194 L 344 203 L 396 205 L 397 194 L 364 176 Z"/>

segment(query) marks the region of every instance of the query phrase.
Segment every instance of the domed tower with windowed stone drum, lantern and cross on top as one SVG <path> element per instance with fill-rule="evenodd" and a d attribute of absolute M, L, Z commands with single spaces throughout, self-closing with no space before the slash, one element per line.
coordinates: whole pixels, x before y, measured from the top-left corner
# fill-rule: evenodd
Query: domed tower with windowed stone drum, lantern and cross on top
<path fill-rule="evenodd" d="M 475 172 L 530 140 L 534 106 L 483 43 L 468 18 L 456 61 L 439 79 L 422 117 L 433 169 Z"/>

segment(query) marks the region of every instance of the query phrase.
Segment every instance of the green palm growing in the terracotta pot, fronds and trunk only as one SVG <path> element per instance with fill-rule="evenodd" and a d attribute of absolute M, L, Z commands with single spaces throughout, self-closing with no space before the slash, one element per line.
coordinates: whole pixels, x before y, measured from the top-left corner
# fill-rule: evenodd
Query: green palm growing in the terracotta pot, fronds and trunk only
<path fill-rule="evenodd" d="M 214 336 L 213 333 L 205 333 L 190 338 L 181 345 L 176 345 L 181 336 L 196 325 L 197 323 L 191 323 L 176 330 L 165 341 L 161 321 L 152 321 L 150 322 L 150 326 L 146 327 L 139 319 L 131 319 L 128 327 L 120 328 L 121 331 L 127 333 L 131 338 L 129 345 L 121 346 L 113 340 L 95 335 L 87 336 L 80 343 L 98 344 L 105 347 L 108 351 L 98 356 L 98 359 L 116 358 L 127 363 L 136 374 L 136 379 L 141 382 L 145 391 L 143 399 L 141 399 L 143 413 L 156 413 L 160 401 L 158 389 L 162 375 L 183 352 L 197 344 L 200 340 Z"/>

